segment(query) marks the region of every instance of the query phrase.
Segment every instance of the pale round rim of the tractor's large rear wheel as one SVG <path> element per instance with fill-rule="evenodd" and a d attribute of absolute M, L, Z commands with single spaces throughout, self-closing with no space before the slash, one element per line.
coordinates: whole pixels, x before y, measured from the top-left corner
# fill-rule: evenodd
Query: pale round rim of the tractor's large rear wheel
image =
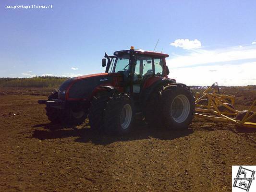
<path fill-rule="evenodd" d="M 171 117 L 177 123 L 184 122 L 190 112 L 190 103 L 186 96 L 178 95 L 171 102 Z"/>

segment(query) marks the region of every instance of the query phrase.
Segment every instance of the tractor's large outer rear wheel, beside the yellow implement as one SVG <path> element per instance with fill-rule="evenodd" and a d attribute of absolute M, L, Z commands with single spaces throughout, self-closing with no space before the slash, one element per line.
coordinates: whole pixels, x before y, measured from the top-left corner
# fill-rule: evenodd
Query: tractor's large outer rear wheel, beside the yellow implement
<path fill-rule="evenodd" d="M 195 113 L 195 98 L 186 86 L 167 86 L 161 93 L 162 122 L 167 128 L 187 129 Z"/>

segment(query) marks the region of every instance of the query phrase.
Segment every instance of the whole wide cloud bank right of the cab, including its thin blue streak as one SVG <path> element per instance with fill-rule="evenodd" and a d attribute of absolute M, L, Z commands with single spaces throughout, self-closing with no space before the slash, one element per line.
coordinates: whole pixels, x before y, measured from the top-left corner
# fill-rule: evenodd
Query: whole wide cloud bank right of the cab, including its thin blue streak
<path fill-rule="evenodd" d="M 188 51 L 167 59 L 170 78 L 188 85 L 256 84 L 256 47 L 228 47 Z"/>

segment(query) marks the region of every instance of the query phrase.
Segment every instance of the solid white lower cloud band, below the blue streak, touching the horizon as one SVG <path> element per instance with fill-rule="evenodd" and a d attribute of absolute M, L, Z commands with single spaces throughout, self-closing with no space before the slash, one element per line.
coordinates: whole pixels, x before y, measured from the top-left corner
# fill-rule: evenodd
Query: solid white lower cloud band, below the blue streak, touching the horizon
<path fill-rule="evenodd" d="M 169 67 L 170 69 L 170 67 Z M 170 78 L 187 85 L 211 85 L 218 82 L 224 86 L 256 84 L 256 62 L 239 65 L 196 66 L 170 69 Z"/>

